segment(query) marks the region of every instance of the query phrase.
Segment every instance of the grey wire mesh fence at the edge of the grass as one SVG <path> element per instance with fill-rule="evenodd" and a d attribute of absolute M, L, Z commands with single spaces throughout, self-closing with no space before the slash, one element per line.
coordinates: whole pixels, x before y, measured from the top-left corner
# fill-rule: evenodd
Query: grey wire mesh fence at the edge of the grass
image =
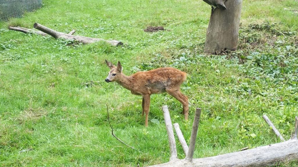
<path fill-rule="evenodd" d="M 41 0 L 0 0 L 0 21 L 21 17 L 24 12 L 41 8 Z"/>

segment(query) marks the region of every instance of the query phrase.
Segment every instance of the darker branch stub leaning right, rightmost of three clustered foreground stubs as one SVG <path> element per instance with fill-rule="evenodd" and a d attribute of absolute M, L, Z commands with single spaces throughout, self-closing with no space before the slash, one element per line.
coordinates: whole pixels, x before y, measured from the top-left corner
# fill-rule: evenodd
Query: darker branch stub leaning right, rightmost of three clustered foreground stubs
<path fill-rule="evenodd" d="M 191 135 L 190 135 L 189 148 L 188 148 L 187 155 L 185 157 L 185 159 L 189 161 L 193 159 L 193 152 L 195 149 L 195 140 L 197 139 L 197 134 L 198 134 L 200 116 L 201 116 L 201 108 L 196 108 L 195 118 L 193 120 L 193 129 L 191 130 Z"/>

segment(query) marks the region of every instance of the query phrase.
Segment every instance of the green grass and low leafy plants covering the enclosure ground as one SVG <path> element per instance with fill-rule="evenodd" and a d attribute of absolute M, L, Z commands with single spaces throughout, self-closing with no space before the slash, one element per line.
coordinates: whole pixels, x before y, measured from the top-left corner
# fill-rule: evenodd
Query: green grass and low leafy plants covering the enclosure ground
<path fill-rule="evenodd" d="M 167 162 L 169 148 L 161 111 L 165 104 L 187 142 L 195 108 L 202 108 L 194 157 L 280 142 L 263 121 L 263 114 L 285 139 L 290 138 L 298 103 L 297 1 L 245 0 L 239 49 L 217 56 L 203 55 L 210 15 L 210 7 L 203 1 L 43 3 L 40 10 L 23 18 L 0 22 L 0 166 Z M 9 25 L 31 28 L 35 22 L 57 31 L 76 29 L 78 35 L 120 40 L 124 46 L 76 45 L 7 30 Z M 144 32 L 149 25 L 169 31 Z M 104 82 L 109 70 L 105 59 L 119 60 L 127 75 L 163 66 L 187 72 L 182 92 L 190 101 L 189 121 L 184 121 L 176 99 L 155 94 L 149 119 L 161 123 L 149 122 L 145 128 L 142 98 L 117 83 Z M 99 82 L 84 84 L 90 81 Z M 138 151 L 111 136 L 105 104 L 115 134 Z M 183 158 L 178 140 L 176 143 Z M 33 150 L 19 153 L 27 148 Z"/>

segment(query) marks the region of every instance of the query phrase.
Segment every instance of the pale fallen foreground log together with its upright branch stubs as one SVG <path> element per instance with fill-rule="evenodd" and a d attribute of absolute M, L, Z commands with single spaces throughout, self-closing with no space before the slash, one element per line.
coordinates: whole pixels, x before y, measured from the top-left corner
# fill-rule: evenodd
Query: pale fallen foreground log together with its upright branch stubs
<path fill-rule="evenodd" d="M 166 108 L 166 110 L 165 110 Z M 167 110 L 167 106 L 162 107 L 164 111 L 167 134 L 169 137 L 169 145 L 172 148 L 170 149 L 171 158 L 170 162 L 153 165 L 149 167 L 261 167 L 261 166 L 271 166 L 280 162 L 288 162 L 290 160 L 298 160 L 298 117 L 295 117 L 295 129 L 294 133 L 291 136 L 291 139 L 281 143 L 270 144 L 268 146 L 260 146 L 254 149 L 243 150 L 239 152 L 228 153 L 224 155 L 218 155 L 213 157 L 206 158 L 194 158 L 193 152 L 194 142 L 197 135 L 198 123 L 200 119 L 201 109 L 197 108 L 195 113 L 195 118 L 193 122 L 193 129 L 190 137 L 190 148 L 187 150 L 185 146 L 185 140 L 182 135 L 182 132 L 177 123 L 174 124 L 175 130 L 177 132 L 177 137 L 181 142 L 181 145 L 184 147 L 184 153 L 186 157 L 184 159 L 172 158 L 173 155 L 177 155 L 175 141 L 173 141 L 173 130 L 172 127 L 169 127 L 171 124 L 170 114 Z M 273 125 L 273 124 L 272 124 Z M 279 135 L 281 136 L 281 135 Z M 187 151 L 186 151 L 187 150 Z M 187 152 L 187 153 L 186 153 Z"/>

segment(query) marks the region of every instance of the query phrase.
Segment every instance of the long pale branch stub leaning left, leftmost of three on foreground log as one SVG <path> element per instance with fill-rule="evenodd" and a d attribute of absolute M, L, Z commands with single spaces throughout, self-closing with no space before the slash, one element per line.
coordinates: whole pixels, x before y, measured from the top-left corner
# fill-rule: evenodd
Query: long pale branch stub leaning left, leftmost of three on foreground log
<path fill-rule="evenodd" d="M 167 129 L 167 135 L 169 139 L 169 146 L 170 146 L 170 161 L 177 160 L 177 150 L 176 150 L 176 142 L 172 127 L 172 122 L 170 118 L 170 113 L 168 110 L 167 105 L 162 106 L 162 111 L 164 113 L 164 123 Z"/>

